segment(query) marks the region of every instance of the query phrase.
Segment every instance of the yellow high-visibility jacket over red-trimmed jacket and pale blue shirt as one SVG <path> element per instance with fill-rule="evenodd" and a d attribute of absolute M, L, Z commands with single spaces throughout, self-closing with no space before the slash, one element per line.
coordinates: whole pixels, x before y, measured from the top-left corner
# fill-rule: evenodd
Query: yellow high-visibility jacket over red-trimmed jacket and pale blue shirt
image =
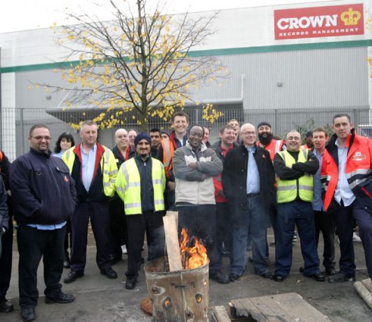
<path fill-rule="evenodd" d="M 102 171 L 103 192 L 107 197 L 114 197 L 115 178 L 118 174 L 118 167 L 116 166 L 114 153 L 112 153 L 112 151 L 106 146 L 102 147 L 104 148 L 104 153 L 102 154 L 100 160 L 100 168 Z M 69 148 L 68 151 L 65 151 L 65 153 L 62 155 L 62 160 L 67 165 L 70 174 L 72 173 L 72 167 L 74 167 L 76 158 L 74 149 L 75 146 L 72 146 L 72 148 Z"/>

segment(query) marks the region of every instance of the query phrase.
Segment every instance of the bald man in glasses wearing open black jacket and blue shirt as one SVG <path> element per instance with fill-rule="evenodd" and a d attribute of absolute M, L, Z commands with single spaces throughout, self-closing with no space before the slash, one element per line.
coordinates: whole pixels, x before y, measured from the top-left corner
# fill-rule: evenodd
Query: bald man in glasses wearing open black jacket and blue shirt
<path fill-rule="evenodd" d="M 271 279 L 265 259 L 267 202 L 274 193 L 274 169 L 270 154 L 256 146 L 256 128 L 246 123 L 240 130 L 242 145 L 229 151 L 224 160 L 222 187 L 231 208 L 233 251 L 231 282 L 245 272 L 247 236 L 251 236 L 257 275 Z"/>

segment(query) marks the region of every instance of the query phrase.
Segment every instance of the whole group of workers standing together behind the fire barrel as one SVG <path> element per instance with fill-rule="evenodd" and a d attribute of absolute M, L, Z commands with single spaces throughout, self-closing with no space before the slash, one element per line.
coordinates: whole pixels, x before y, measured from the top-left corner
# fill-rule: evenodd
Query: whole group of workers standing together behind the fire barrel
<path fill-rule="evenodd" d="M 97 246 L 100 273 L 116 279 L 114 263 L 127 253 L 126 289 L 137 284 L 146 233 L 150 261 L 164 256 L 166 210 L 178 210 L 178 231 L 187 228 L 206 246 L 210 279 L 227 284 L 247 266 L 251 244 L 255 273 L 283 282 L 290 273 L 292 240 L 297 227 L 304 265 L 315 281 L 355 280 L 353 222 L 359 226 L 366 266 L 372 277 L 372 143 L 356 135 L 350 116 L 333 118 L 334 135 L 324 128 L 274 139 L 261 122 L 241 127 L 231 120 L 209 143 L 209 129 L 189 125 L 184 112 L 172 118 L 173 132 L 115 132 L 115 146 L 98 142 L 98 125 L 84 121 L 81 142 L 63 133 L 55 153 L 46 125 L 29 131 L 30 151 L 12 164 L 0 153 L 0 311 L 13 311 L 6 300 L 17 222 L 20 253 L 19 291 L 22 319 L 36 319 L 37 270 L 44 263 L 45 302 L 68 303 L 64 283 L 84 277 L 88 222 Z M 132 133 L 131 133 L 132 132 Z M 132 135 L 132 137 L 131 137 Z M 274 231 L 275 270 L 268 265 L 268 227 Z M 318 238 L 323 234 L 320 271 Z M 335 270 L 334 236 L 341 257 Z M 71 248 L 71 252 L 68 250 Z M 64 250 L 64 251 L 63 251 Z M 222 272 L 228 254 L 230 273 Z"/>

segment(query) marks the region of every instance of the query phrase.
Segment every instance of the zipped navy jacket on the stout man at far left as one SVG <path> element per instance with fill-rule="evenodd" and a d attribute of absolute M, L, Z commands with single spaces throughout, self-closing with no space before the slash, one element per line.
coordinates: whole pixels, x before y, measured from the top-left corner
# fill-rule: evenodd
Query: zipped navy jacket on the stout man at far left
<path fill-rule="evenodd" d="M 18 224 L 60 224 L 74 213 L 75 182 L 52 152 L 30 149 L 10 165 L 15 220 Z"/>

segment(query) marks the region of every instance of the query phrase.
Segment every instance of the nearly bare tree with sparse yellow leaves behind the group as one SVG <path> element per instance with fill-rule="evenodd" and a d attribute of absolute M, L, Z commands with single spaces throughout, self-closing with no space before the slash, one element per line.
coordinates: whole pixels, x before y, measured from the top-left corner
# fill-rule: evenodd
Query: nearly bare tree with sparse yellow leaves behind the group
<path fill-rule="evenodd" d="M 59 45 L 69 53 L 65 59 L 79 59 L 62 70 L 68 86 L 42 86 L 68 89 L 66 106 L 102 107 L 95 121 L 103 128 L 120 123 L 121 114 L 137 111 L 137 122 L 146 129 L 149 116 L 168 121 L 176 107 L 193 101 L 193 89 L 228 75 L 215 56 L 190 52 L 213 33 L 217 13 L 163 15 L 160 3 L 148 13 L 146 0 L 136 0 L 127 14 L 109 2 L 114 20 L 69 13 L 77 24 L 57 29 Z M 116 112 L 108 117 L 110 111 Z M 210 121 L 219 116 L 211 105 L 206 111 Z"/>

